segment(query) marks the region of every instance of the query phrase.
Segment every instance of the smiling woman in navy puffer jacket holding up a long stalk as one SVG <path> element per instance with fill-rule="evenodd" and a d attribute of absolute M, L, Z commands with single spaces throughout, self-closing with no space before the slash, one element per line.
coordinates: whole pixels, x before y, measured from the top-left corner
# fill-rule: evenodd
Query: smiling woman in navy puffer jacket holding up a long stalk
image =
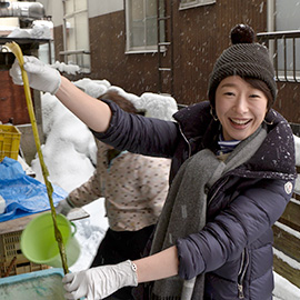
<path fill-rule="evenodd" d="M 137 299 L 272 299 L 272 226 L 297 178 L 293 134 L 271 109 L 277 87 L 267 48 L 253 42 L 248 26 L 231 33 L 234 43 L 210 77 L 210 101 L 181 109 L 176 122 L 128 113 L 27 60 L 30 86 L 54 93 L 96 138 L 118 150 L 172 159 L 149 256 L 67 274 L 67 299 L 103 299 L 148 281 Z M 18 82 L 18 72 L 11 74 Z"/>

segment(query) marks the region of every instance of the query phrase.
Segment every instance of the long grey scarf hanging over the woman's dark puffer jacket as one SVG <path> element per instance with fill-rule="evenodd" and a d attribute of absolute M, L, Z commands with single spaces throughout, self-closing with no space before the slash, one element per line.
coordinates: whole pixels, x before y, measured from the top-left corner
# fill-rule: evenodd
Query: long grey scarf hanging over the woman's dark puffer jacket
<path fill-rule="evenodd" d="M 211 188 L 224 173 L 249 160 L 266 137 L 266 130 L 259 128 L 252 136 L 241 141 L 224 162 L 209 149 L 203 149 L 181 166 L 161 212 L 151 254 L 176 244 L 179 238 L 197 233 L 204 227 L 207 213 L 204 188 Z M 186 281 L 176 276 L 156 281 L 151 299 L 200 300 L 203 299 L 203 291 L 204 274 Z"/>

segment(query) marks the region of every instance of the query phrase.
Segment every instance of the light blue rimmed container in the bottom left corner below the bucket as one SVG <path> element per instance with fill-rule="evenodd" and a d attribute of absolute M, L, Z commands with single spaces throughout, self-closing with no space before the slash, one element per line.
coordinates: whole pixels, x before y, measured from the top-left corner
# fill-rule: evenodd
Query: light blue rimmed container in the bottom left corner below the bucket
<path fill-rule="evenodd" d="M 63 270 L 52 268 L 0 279 L 1 300 L 64 300 Z"/>

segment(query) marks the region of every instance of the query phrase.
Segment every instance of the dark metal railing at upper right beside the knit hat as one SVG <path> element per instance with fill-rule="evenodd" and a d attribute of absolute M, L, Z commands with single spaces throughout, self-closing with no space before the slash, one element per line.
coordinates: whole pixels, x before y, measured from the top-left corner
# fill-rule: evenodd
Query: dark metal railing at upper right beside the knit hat
<path fill-rule="evenodd" d="M 261 32 L 257 37 L 269 48 L 276 79 L 300 82 L 300 30 Z"/>

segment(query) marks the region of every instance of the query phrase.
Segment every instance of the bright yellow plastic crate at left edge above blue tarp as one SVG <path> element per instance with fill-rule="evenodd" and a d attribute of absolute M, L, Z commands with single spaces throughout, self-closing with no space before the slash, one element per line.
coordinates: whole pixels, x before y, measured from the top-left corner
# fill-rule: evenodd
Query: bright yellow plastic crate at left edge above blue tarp
<path fill-rule="evenodd" d="M 14 126 L 0 124 L 0 161 L 4 157 L 18 160 L 21 132 Z"/>

